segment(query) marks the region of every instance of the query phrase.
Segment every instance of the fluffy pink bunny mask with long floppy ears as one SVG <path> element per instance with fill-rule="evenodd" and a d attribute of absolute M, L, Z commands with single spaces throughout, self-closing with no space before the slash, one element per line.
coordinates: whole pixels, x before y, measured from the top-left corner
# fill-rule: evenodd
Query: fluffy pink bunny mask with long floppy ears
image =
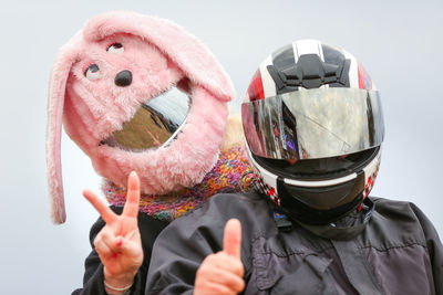
<path fill-rule="evenodd" d="M 123 50 L 110 50 L 115 43 Z M 86 76 L 91 64 L 95 73 Z M 125 71 L 132 81 L 117 85 L 116 75 Z M 131 120 L 141 104 L 174 86 L 186 91 L 192 103 L 185 125 L 168 146 L 135 152 L 101 144 Z M 51 72 L 47 170 L 53 222 L 65 221 L 62 123 L 101 176 L 125 187 L 135 170 L 144 193 L 162 194 L 198 183 L 216 162 L 227 102 L 234 95 L 214 55 L 175 23 L 133 12 L 92 18 L 59 51 Z"/>

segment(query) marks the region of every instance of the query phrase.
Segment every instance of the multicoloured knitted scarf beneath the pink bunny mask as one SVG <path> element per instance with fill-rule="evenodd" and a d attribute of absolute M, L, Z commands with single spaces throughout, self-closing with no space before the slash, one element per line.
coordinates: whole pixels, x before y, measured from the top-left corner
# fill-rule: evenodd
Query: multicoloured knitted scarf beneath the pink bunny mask
<path fill-rule="evenodd" d="M 248 190 L 253 186 L 251 171 L 245 148 L 233 147 L 220 152 L 218 161 L 199 185 L 163 196 L 142 194 L 140 211 L 172 221 L 216 193 Z M 126 190 L 109 180 L 103 182 L 103 192 L 112 206 L 123 207 L 126 202 Z"/>

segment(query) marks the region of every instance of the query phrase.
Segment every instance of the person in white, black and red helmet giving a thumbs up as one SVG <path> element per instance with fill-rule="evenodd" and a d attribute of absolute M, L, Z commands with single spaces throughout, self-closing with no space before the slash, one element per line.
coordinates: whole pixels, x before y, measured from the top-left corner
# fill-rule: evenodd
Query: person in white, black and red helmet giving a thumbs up
<path fill-rule="evenodd" d="M 443 294 L 432 223 L 413 203 L 369 197 L 384 123 L 353 55 L 316 40 L 277 50 L 241 116 L 257 189 L 171 223 L 146 294 Z"/>

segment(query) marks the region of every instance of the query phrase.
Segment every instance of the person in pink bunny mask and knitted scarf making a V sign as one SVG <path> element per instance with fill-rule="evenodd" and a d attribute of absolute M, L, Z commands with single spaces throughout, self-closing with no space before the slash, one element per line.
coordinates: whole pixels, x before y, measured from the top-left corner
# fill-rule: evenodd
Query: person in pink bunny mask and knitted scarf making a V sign
<path fill-rule="evenodd" d="M 234 96 L 209 50 L 158 17 L 102 13 L 60 49 L 48 101 L 51 218 L 65 221 L 62 126 L 103 176 L 111 206 L 85 192 L 102 218 L 73 294 L 143 294 L 163 228 L 216 192 L 248 187 L 250 167 L 236 136 L 241 122 L 228 117 Z"/>

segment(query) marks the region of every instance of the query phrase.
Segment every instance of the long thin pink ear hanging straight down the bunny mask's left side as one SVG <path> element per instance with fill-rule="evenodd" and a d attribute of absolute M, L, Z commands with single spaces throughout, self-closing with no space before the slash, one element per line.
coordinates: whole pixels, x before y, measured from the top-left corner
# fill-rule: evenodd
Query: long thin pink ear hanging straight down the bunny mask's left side
<path fill-rule="evenodd" d="M 72 64 L 76 61 L 81 33 L 78 32 L 55 56 L 50 77 L 47 124 L 47 173 L 51 219 L 63 223 L 66 219 L 61 169 L 61 131 L 64 94 Z"/>

